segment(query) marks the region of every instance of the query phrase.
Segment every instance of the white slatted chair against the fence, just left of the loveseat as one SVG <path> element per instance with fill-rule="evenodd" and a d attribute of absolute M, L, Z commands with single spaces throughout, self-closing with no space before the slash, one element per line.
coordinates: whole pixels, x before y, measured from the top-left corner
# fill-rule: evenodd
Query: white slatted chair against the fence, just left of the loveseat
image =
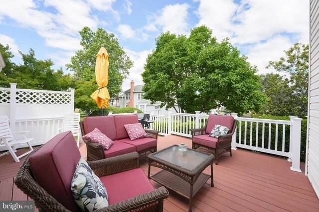
<path fill-rule="evenodd" d="M 77 136 L 77 145 L 79 147 L 80 142 L 80 113 L 68 113 L 64 115 L 64 123 L 63 123 L 63 129 L 59 129 L 59 133 L 65 132 L 65 131 L 71 131 L 73 136 Z"/>

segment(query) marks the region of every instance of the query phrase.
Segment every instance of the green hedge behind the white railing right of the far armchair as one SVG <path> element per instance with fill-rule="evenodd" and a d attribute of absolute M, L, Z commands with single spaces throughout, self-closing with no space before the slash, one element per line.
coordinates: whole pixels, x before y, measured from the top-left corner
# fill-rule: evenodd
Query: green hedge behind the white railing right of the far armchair
<path fill-rule="evenodd" d="M 273 119 L 273 120 L 290 120 L 290 117 L 285 116 L 266 116 L 266 115 L 252 115 L 252 118 L 257 119 Z M 246 137 L 246 144 L 250 145 L 250 122 L 247 122 L 247 137 Z M 262 123 L 258 125 L 258 147 L 262 147 Z M 237 142 L 239 142 L 239 122 L 237 123 Z M 269 148 L 269 124 L 265 123 L 265 134 L 264 134 L 264 148 Z M 245 135 L 245 122 L 242 122 L 241 128 L 241 143 L 244 142 L 244 135 Z M 275 138 L 276 137 L 276 124 L 271 125 L 271 143 L 270 149 L 275 149 Z M 306 138 L 307 138 L 307 119 L 303 119 L 301 123 L 301 154 L 300 160 L 306 160 Z M 285 152 L 289 151 L 289 141 L 290 141 L 290 126 L 285 126 Z M 278 146 L 277 150 L 282 150 L 282 143 L 283 143 L 283 125 L 278 125 Z M 253 123 L 252 129 L 252 146 L 256 145 L 256 123 Z"/>

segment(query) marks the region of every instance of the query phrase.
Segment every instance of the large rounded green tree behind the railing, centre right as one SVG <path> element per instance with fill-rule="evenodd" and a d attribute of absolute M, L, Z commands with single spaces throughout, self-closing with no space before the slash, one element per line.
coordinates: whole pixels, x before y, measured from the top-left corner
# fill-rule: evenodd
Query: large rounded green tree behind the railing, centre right
<path fill-rule="evenodd" d="M 144 98 L 167 108 L 194 113 L 219 106 L 242 114 L 264 102 L 255 67 L 228 39 L 217 42 L 199 26 L 184 35 L 162 33 L 142 73 Z"/>

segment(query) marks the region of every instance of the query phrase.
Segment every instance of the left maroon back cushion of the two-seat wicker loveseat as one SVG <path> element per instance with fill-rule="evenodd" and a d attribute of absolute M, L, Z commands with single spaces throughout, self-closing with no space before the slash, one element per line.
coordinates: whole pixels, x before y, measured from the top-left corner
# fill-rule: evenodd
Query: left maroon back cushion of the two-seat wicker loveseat
<path fill-rule="evenodd" d="M 97 128 L 112 141 L 116 140 L 114 116 L 84 117 L 83 125 L 85 134 L 88 134 Z"/>

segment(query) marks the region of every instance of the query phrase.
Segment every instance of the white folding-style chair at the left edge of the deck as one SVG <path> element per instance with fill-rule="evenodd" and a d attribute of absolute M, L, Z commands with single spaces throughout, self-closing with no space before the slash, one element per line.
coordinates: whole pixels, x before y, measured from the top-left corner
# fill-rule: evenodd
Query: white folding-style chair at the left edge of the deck
<path fill-rule="evenodd" d="M 22 131 L 22 132 L 14 132 L 12 133 L 9 127 L 8 117 L 7 116 L 0 116 L 0 147 L 5 146 L 8 151 L 0 154 L 0 157 L 5 154 L 11 154 L 15 162 L 19 162 L 19 158 L 29 154 L 31 151 L 33 151 L 33 148 L 30 144 L 30 141 L 33 140 L 27 139 L 24 133 L 28 133 L 28 131 Z M 15 140 L 12 134 L 17 134 L 16 138 L 21 138 L 21 140 Z M 29 151 L 16 156 L 16 147 L 21 144 L 27 144 L 30 148 Z"/>

